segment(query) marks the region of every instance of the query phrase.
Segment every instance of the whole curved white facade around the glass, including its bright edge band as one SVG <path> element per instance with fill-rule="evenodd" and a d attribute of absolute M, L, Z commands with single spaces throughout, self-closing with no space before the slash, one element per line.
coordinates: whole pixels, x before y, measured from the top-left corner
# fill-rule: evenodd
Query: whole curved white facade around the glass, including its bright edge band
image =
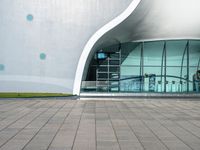
<path fill-rule="evenodd" d="M 2 0 L 0 92 L 79 94 L 99 48 L 200 39 L 199 26 L 198 0 Z"/>

